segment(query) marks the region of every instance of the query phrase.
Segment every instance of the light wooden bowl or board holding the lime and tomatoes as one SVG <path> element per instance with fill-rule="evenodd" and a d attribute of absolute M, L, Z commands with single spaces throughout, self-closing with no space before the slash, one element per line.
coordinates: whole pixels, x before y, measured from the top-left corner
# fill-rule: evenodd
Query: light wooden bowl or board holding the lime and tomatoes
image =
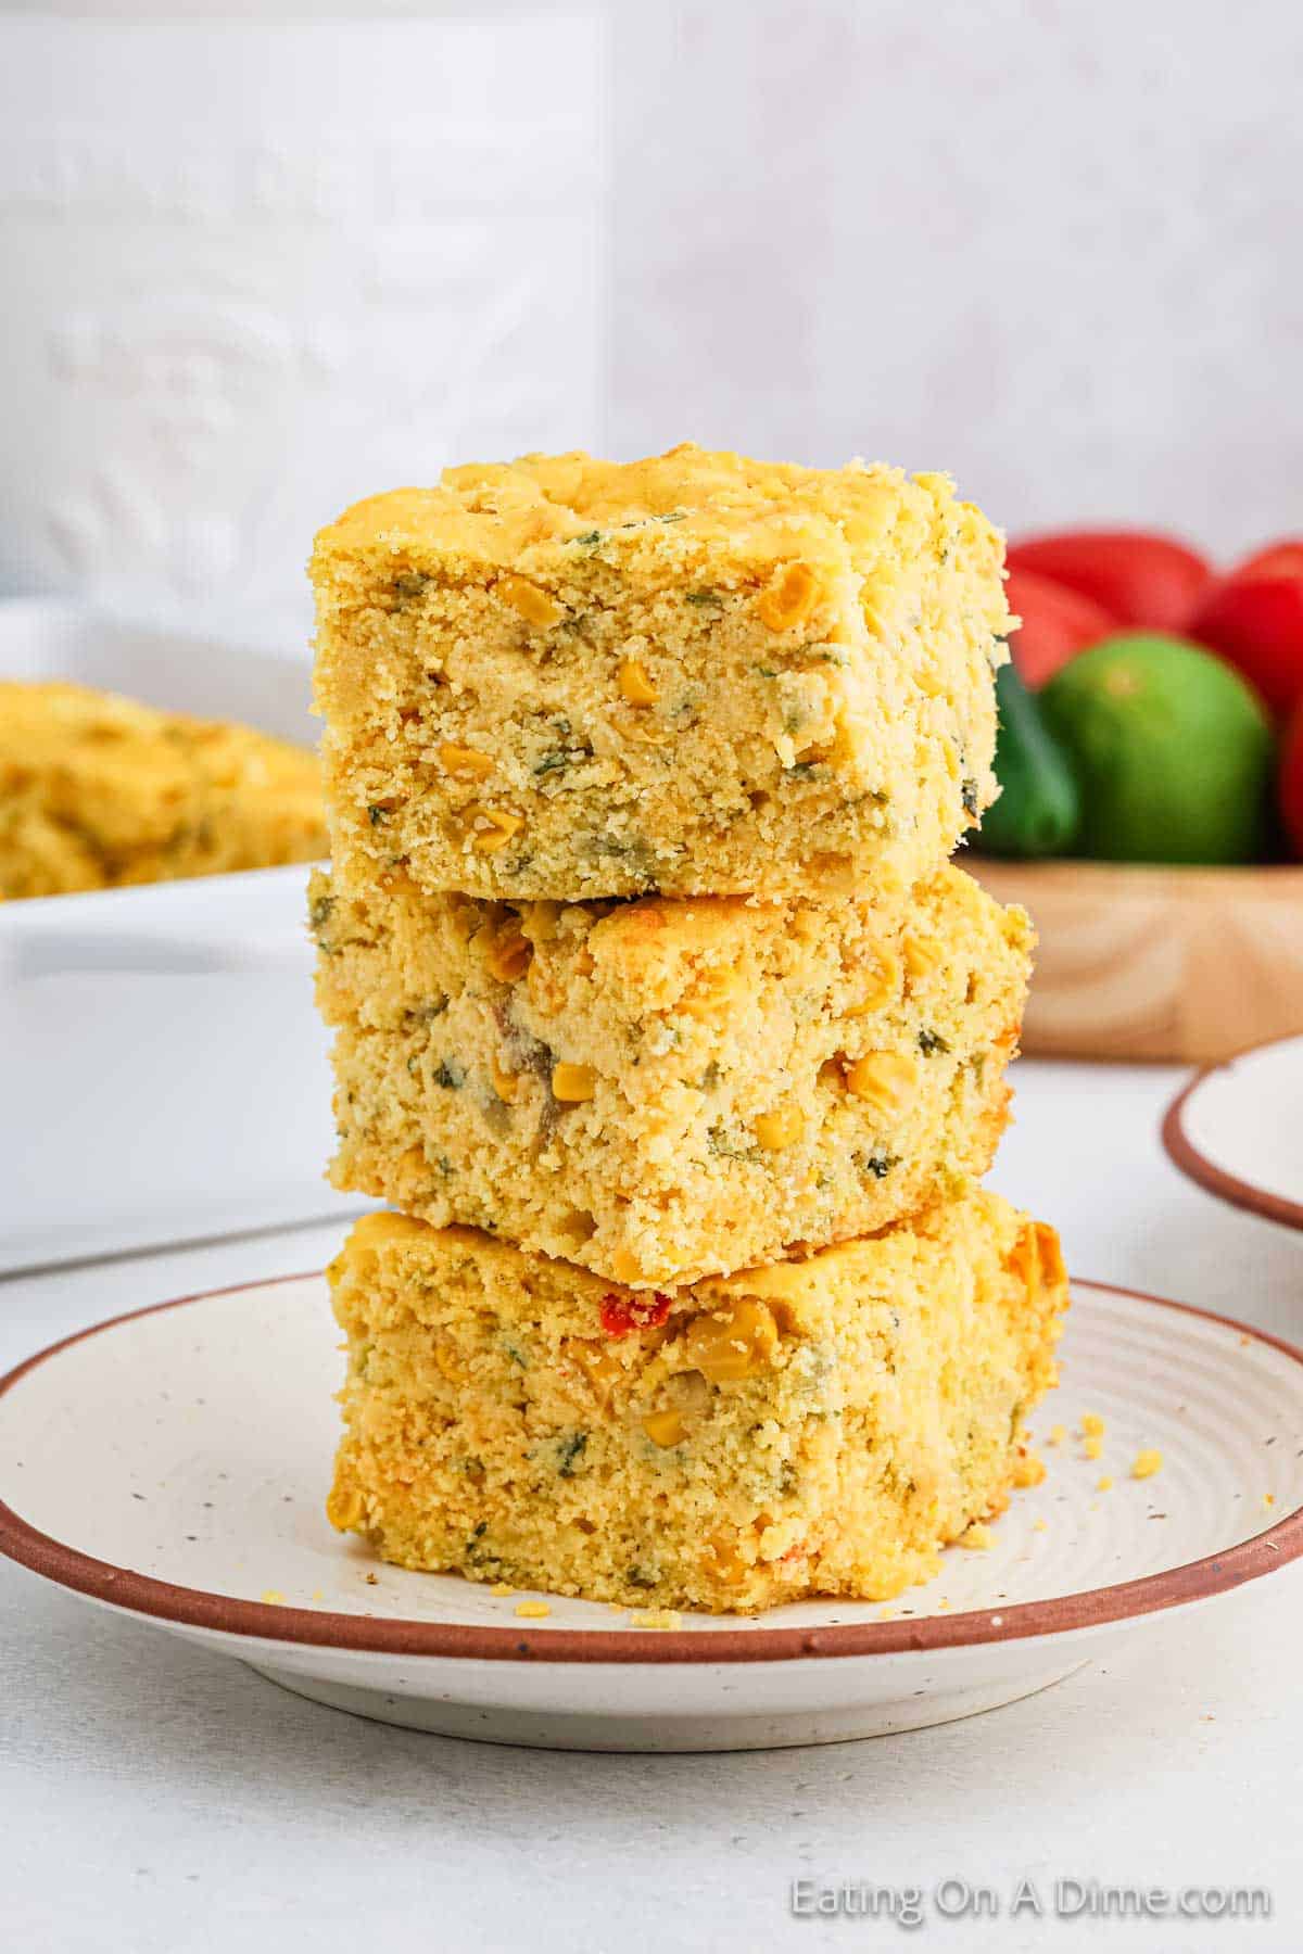
<path fill-rule="evenodd" d="M 1041 938 L 1024 1051 L 1209 1063 L 1303 1032 L 1303 868 L 961 860 Z"/>

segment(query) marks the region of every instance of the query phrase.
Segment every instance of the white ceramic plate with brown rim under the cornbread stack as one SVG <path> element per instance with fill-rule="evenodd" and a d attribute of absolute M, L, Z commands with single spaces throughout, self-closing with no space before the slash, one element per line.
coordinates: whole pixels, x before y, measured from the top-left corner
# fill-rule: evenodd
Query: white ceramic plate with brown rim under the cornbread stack
<path fill-rule="evenodd" d="M 1076 1284 L 1045 1483 L 985 1553 L 879 1608 L 682 1628 L 385 1567 L 330 1530 L 338 1331 L 320 1276 L 119 1317 L 0 1383 L 0 1550 L 318 1702 L 567 1749 L 828 1743 L 990 1710 L 1303 1553 L 1303 1352 Z M 1076 1436 L 1106 1421 L 1100 1460 Z M 1162 1469 L 1133 1479 L 1143 1448 Z M 1110 1489 L 1100 1489 L 1102 1477 Z M 537 1598 L 537 1596 L 535 1596 Z"/>

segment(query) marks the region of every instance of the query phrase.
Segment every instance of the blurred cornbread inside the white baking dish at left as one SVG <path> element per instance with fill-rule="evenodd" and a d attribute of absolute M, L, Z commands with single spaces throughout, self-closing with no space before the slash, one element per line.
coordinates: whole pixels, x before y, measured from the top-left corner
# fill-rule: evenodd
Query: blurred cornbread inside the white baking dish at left
<path fill-rule="evenodd" d="M 322 854 L 315 752 L 86 686 L 0 682 L 0 897 Z"/>

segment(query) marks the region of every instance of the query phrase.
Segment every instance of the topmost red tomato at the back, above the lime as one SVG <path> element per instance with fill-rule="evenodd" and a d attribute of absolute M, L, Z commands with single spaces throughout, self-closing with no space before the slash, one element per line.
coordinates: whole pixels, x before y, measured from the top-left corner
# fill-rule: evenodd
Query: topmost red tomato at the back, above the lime
<path fill-rule="evenodd" d="M 1008 561 L 1102 604 L 1121 625 L 1151 631 L 1182 631 L 1213 576 L 1186 543 L 1145 530 L 1033 535 L 1014 543 Z"/>

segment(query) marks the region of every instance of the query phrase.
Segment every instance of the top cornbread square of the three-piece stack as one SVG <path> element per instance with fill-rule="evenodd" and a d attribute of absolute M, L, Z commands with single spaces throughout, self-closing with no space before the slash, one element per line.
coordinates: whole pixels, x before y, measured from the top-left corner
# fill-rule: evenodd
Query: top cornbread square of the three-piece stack
<path fill-rule="evenodd" d="M 904 891 L 996 791 L 1002 541 L 942 475 L 447 469 L 324 530 L 313 582 L 344 881 Z"/>

